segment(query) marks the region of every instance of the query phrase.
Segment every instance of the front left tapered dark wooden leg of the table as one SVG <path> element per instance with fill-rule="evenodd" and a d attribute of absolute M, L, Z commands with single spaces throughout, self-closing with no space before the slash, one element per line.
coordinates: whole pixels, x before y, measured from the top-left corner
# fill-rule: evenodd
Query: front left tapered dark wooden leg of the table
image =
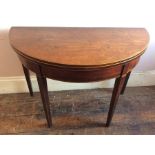
<path fill-rule="evenodd" d="M 46 78 L 42 75 L 37 75 L 37 80 L 38 80 L 40 94 L 41 94 L 43 107 L 46 115 L 46 120 L 48 123 L 48 127 L 50 128 L 52 126 L 52 118 L 51 118 L 50 105 L 49 105 L 47 81 L 46 81 Z"/>

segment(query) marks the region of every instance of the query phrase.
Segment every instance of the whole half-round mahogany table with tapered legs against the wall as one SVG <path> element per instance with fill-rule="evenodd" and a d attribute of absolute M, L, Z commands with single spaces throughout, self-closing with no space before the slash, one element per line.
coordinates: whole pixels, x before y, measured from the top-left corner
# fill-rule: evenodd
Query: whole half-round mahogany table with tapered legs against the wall
<path fill-rule="evenodd" d="M 31 96 L 29 70 L 36 73 L 48 127 L 52 118 L 46 78 L 65 82 L 116 78 L 108 127 L 119 95 L 149 42 L 144 28 L 12 27 L 9 37 Z"/>

